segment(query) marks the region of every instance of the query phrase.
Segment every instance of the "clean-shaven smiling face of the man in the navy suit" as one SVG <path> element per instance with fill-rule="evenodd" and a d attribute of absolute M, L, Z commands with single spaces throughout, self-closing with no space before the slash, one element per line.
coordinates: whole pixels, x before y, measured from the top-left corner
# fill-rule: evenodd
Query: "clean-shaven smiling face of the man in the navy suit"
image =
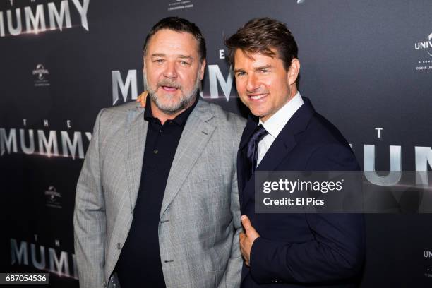
<path fill-rule="evenodd" d="M 300 63 L 293 59 L 285 70 L 277 51 L 275 56 L 248 53 L 236 49 L 234 75 L 236 88 L 243 102 L 255 116 L 265 122 L 296 95 L 296 78 Z"/>

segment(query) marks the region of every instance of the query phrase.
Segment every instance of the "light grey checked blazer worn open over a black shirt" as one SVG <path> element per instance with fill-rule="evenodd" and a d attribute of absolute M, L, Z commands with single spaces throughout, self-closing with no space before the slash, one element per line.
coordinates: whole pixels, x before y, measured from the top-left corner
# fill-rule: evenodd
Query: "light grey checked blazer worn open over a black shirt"
<path fill-rule="evenodd" d="M 131 227 L 145 161 L 143 112 L 131 102 L 97 116 L 73 214 L 81 288 L 107 287 Z M 186 121 L 160 211 L 167 287 L 239 287 L 236 153 L 245 123 L 203 100 Z"/>

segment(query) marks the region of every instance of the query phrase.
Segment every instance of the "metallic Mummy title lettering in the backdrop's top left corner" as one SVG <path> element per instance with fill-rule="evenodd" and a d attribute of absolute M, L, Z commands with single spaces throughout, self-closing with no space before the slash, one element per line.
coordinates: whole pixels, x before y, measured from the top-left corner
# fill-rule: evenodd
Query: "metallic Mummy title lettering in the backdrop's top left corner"
<path fill-rule="evenodd" d="M 42 4 L 35 4 L 35 0 L 27 1 L 30 6 L 20 7 L 13 6 L 18 3 L 23 5 L 24 0 L 16 3 L 10 1 L 11 8 L 0 11 L 0 37 L 62 31 L 64 28 L 72 28 L 73 25 L 81 25 L 85 30 L 89 30 L 87 13 L 90 0 L 44 1 Z"/>

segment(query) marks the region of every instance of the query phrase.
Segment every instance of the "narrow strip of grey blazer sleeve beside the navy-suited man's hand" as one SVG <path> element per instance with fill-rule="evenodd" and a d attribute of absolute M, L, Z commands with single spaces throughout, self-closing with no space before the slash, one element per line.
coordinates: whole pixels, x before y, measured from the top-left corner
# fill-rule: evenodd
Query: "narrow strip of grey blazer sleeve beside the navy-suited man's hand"
<path fill-rule="evenodd" d="M 234 169 L 235 171 L 236 169 Z M 241 280 L 241 265 L 243 259 L 240 253 L 239 234 L 243 231 L 240 220 L 240 203 L 239 203 L 239 188 L 237 185 L 237 172 L 235 172 L 231 187 L 231 212 L 232 221 L 234 223 L 234 237 L 232 239 L 231 256 L 228 260 L 227 269 L 224 272 L 222 281 L 217 286 L 218 288 L 236 288 L 240 287 Z"/>

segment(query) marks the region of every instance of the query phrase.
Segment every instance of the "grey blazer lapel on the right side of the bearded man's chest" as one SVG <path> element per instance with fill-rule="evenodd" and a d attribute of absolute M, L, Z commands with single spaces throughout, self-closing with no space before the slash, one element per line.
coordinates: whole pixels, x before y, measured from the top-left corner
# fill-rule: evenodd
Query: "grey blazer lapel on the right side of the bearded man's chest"
<path fill-rule="evenodd" d="M 210 140 L 216 128 L 211 121 L 214 116 L 210 104 L 198 100 L 196 107 L 186 121 L 183 133 L 181 133 L 180 142 L 169 171 L 160 217 L 174 200 L 193 165 Z"/>

